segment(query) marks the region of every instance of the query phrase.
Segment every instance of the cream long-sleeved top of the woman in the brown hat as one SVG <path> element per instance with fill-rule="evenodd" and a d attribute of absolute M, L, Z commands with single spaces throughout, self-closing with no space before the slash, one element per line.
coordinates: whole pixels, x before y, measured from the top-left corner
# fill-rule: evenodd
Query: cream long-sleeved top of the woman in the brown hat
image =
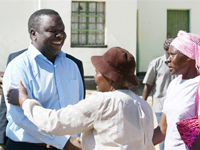
<path fill-rule="evenodd" d="M 43 132 L 82 132 L 83 150 L 155 150 L 151 107 L 129 90 L 97 92 L 58 111 L 26 100 L 23 109 Z"/>

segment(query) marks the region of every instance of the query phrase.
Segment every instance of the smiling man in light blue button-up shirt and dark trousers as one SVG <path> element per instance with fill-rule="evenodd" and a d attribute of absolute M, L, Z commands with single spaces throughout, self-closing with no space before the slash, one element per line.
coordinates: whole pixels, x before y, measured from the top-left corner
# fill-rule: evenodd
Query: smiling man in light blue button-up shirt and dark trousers
<path fill-rule="evenodd" d="M 30 98 L 37 99 L 45 108 L 58 110 L 83 99 L 79 69 L 61 51 L 66 34 L 60 15 L 50 9 L 36 11 L 29 18 L 28 28 L 32 42 L 26 52 L 9 63 L 3 78 L 4 94 L 10 88 L 17 88 L 19 80 L 22 80 Z M 70 135 L 42 133 L 21 109 L 7 102 L 6 105 L 6 135 L 9 138 L 6 149 L 67 150 L 80 147 Z M 74 142 L 75 146 L 72 145 Z"/>

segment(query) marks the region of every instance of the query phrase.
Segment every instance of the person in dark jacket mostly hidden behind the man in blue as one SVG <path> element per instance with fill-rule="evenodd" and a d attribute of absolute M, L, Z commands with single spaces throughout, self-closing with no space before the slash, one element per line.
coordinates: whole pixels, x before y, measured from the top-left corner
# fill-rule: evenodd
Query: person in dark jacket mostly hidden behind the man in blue
<path fill-rule="evenodd" d="M 22 54 L 23 52 L 25 52 L 27 49 L 23 49 L 21 51 L 17 51 L 17 52 L 14 52 L 14 53 L 11 53 L 9 56 L 8 56 L 8 59 L 7 59 L 7 65 L 8 63 L 10 63 L 15 57 L 17 57 L 18 55 Z M 85 82 L 84 82 L 84 70 L 83 70 L 83 64 L 82 64 L 82 61 L 69 55 L 69 54 L 66 54 L 66 57 L 73 60 L 78 68 L 79 68 L 79 71 L 81 73 L 81 77 L 82 77 L 82 80 L 83 80 L 83 85 L 84 85 L 84 97 L 85 97 Z M 3 92 L 2 92 L 3 93 Z M 0 104 L 0 150 L 4 150 L 5 148 L 5 145 L 6 145 L 6 141 L 7 141 L 7 137 L 6 137 L 6 125 L 8 123 L 7 119 L 6 119 L 6 111 L 7 111 L 7 108 L 6 108 L 6 104 L 5 104 L 5 98 L 4 98 L 4 94 L 1 95 L 1 104 Z"/>

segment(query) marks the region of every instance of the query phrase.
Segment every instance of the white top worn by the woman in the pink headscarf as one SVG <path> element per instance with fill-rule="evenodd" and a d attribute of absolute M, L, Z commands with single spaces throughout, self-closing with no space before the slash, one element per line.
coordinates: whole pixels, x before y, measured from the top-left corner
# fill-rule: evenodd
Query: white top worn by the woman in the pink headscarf
<path fill-rule="evenodd" d="M 181 140 L 176 122 L 195 116 L 195 97 L 200 76 L 184 80 L 178 76 L 167 90 L 163 113 L 167 119 L 165 150 L 188 150 Z"/>

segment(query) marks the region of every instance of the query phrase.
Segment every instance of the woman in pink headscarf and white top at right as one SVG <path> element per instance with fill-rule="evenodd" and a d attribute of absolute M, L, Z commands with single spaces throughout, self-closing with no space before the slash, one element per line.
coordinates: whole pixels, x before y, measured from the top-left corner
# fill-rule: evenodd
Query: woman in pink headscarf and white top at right
<path fill-rule="evenodd" d="M 169 71 L 178 77 L 168 87 L 161 121 L 154 130 L 153 143 L 156 145 L 165 139 L 165 150 L 189 150 L 180 137 L 176 123 L 195 117 L 195 97 L 200 81 L 200 36 L 179 31 L 170 45 L 169 53 Z M 192 150 L 200 149 L 197 145 L 199 138 Z"/>

